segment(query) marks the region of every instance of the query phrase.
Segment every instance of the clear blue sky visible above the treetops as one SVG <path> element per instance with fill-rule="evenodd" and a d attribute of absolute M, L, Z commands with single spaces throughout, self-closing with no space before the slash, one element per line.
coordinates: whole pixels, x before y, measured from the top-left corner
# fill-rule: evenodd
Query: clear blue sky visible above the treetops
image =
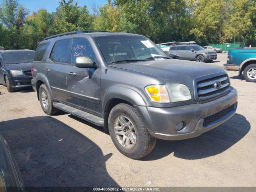
<path fill-rule="evenodd" d="M 0 3 L 2 2 L 3 1 L 0 0 Z M 93 4 L 102 6 L 107 2 L 107 0 L 74 0 L 74 2 L 78 2 L 78 6 L 86 4 L 91 12 L 90 8 Z M 46 8 L 49 12 L 54 12 L 59 5 L 59 0 L 19 0 L 19 4 L 28 8 L 30 10 L 30 14 L 40 8 Z"/>

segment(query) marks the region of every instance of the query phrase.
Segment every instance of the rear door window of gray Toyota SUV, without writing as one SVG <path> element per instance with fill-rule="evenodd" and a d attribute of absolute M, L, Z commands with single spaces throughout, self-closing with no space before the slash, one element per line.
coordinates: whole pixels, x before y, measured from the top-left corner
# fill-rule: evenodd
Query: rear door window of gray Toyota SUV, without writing
<path fill-rule="evenodd" d="M 69 39 L 56 41 L 50 55 L 50 60 L 53 62 L 68 62 L 68 45 Z"/>

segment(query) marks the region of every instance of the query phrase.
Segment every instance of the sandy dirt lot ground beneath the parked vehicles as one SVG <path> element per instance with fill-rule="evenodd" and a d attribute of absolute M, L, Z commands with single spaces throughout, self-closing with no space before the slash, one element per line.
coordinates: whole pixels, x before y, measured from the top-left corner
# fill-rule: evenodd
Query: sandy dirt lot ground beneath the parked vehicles
<path fill-rule="evenodd" d="M 214 64 L 225 62 L 218 54 Z M 32 89 L 0 86 L 0 134 L 26 186 L 256 186 L 256 84 L 228 74 L 235 116 L 197 138 L 157 140 L 142 160 L 120 154 L 100 127 L 64 112 L 47 116 Z"/>

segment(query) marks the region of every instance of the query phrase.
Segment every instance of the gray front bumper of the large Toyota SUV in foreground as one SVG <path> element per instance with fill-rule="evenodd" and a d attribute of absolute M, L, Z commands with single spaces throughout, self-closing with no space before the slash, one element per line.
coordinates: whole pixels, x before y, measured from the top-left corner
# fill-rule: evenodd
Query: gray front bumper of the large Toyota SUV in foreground
<path fill-rule="evenodd" d="M 221 112 L 232 105 L 234 105 L 234 108 L 227 114 L 212 121 L 210 124 L 204 125 L 204 118 Z M 149 128 L 149 131 L 155 138 L 182 140 L 199 136 L 224 123 L 235 114 L 236 107 L 237 92 L 236 89 L 230 87 L 228 94 L 225 96 L 203 104 L 190 104 L 172 108 L 147 107 L 151 122 L 148 122 L 147 115 L 142 114 L 142 116 L 143 118 L 146 116 L 144 120 L 147 126 L 153 126 L 153 128 Z M 180 131 L 175 130 L 175 125 L 178 122 L 184 122 L 184 128 Z"/>

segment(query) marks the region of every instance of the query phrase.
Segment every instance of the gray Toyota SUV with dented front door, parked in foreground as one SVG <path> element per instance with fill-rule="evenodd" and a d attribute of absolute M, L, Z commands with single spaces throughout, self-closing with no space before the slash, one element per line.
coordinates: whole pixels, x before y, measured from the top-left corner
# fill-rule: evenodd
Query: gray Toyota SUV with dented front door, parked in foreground
<path fill-rule="evenodd" d="M 136 34 L 75 31 L 45 38 L 32 76 L 46 114 L 63 110 L 104 127 L 133 159 L 149 154 L 156 138 L 199 136 L 237 107 L 224 69 L 170 59 Z"/>

